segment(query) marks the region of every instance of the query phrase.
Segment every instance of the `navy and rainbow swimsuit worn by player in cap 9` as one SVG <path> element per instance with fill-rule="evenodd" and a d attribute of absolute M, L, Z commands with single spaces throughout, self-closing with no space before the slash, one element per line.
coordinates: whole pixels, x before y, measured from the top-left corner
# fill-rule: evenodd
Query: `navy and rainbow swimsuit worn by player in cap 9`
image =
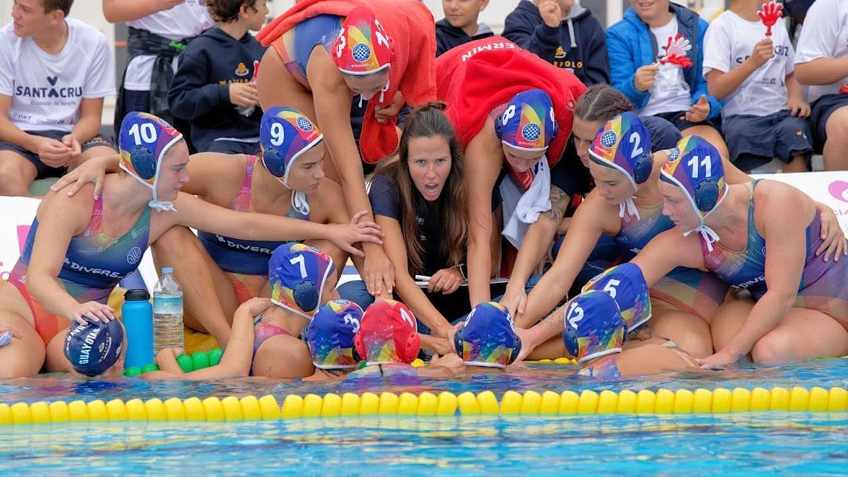
<path fill-rule="evenodd" d="M 243 212 L 253 212 L 254 204 L 251 200 L 252 187 L 251 179 L 254 173 L 254 166 L 257 157 L 248 155 L 248 168 L 244 173 L 244 181 L 242 188 L 238 190 L 236 197 L 228 206 L 229 209 Z M 292 194 L 295 194 L 292 191 Z M 304 195 L 304 199 L 305 199 Z M 308 213 L 304 214 L 292 207 L 286 213 L 287 217 L 309 221 Z M 198 239 L 204 244 L 204 248 L 209 252 L 212 260 L 218 264 L 221 270 L 230 273 L 238 273 L 243 275 L 268 275 L 268 259 L 271 258 L 271 253 L 281 244 L 286 244 L 287 241 L 268 241 L 268 240 L 243 240 L 224 237 L 216 233 L 203 232 L 198 230 Z"/>

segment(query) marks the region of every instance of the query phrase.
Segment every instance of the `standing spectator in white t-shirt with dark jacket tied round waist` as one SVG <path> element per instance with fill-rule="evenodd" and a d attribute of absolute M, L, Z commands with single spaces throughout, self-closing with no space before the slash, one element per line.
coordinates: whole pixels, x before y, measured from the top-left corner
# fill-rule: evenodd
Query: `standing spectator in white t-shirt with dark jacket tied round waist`
<path fill-rule="evenodd" d="M 205 0 L 103 0 L 103 16 L 111 23 L 126 22 L 129 27 L 126 69 L 114 109 L 115 133 L 129 111 L 153 113 L 172 122 L 168 87 L 176 70 L 176 56 L 195 36 L 214 25 Z M 183 131 L 179 121 L 176 126 Z"/>

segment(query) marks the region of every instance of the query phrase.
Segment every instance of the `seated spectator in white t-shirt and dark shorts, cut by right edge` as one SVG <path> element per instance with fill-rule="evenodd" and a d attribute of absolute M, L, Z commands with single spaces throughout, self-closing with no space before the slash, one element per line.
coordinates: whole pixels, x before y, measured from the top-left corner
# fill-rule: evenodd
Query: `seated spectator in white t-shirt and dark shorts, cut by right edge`
<path fill-rule="evenodd" d="M 817 0 L 807 10 L 795 70 L 810 85 L 813 142 L 824 168 L 848 170 L 848 2 Z"/>

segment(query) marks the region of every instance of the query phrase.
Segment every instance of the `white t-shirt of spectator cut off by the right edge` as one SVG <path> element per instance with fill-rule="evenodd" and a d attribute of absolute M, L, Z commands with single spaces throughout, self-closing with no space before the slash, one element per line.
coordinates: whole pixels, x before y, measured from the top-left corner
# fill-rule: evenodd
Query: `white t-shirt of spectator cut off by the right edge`
<path fill-rule="evenodd" d="M 795 64 L 817 58 L 845 57 L 848 57 L 848 2 L 817 0 L 806 12 Z M 825 94 L 839 93 L 845 83 L 848 83 L 848 76 L 828 85 L 811 86 L 807 94 L 812 102 Z"/>

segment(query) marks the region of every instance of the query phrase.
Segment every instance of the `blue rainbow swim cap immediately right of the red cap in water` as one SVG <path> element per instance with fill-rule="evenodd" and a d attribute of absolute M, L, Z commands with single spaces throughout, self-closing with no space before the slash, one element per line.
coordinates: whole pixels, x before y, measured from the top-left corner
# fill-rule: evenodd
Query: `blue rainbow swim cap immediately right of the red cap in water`
<path fill-rule="evenodd" d="M 494 301 L 477 304 L 454 335 L 454 349 L 472 366 L 506 368 L 522 351 L 510 311 Z"/>

